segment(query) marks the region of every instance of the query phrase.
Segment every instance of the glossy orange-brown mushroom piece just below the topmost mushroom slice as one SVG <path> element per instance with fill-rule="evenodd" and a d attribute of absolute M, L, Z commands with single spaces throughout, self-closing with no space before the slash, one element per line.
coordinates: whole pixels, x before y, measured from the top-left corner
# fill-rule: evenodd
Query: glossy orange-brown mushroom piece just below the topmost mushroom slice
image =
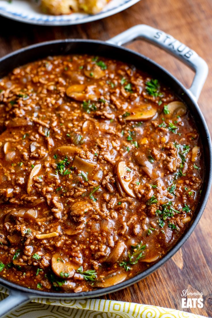
<path fill-rule="evenodd" d="M 71 85 L 66 89 L 66 95 L 79 101 L 97 101 L 100 96 L 100 92 L 95 85 Z"/>

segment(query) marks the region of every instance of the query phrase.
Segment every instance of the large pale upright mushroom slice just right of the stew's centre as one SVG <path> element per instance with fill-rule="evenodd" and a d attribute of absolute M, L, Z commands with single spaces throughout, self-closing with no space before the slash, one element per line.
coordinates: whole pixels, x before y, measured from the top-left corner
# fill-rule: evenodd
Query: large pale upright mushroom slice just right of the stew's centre
<path fill-rule="evenodd" d="M 129 168 L 127 169 L 127 165 L 124 161 L 120 161 L 117 165 L 117 176 L 123 190 L 125 190 L 129 196 L 135 197 L 133 190 L 129 188 L 132 182 L 133 171 Z"/>

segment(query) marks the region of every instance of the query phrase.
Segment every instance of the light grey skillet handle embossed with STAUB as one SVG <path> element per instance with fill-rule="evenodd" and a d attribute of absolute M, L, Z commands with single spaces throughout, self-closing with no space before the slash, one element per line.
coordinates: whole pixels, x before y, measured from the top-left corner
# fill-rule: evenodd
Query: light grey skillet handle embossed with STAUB
<path fill-rule="evenodd" d="M 198 100 L 202 91 L 202 86 L 208 75 L 207 63 L 196 52 L 189 49 L 188 46 L 182 44 L 171 35 L 146 24 L 135 25 L 114 38 L 111 38 L 107 42 L 120 46 L 132 42 L 137 38 L 145 39 L 146 41 L 161 47 L 195 71 L 194 80 L 188 91 L 195 100 Z"/>

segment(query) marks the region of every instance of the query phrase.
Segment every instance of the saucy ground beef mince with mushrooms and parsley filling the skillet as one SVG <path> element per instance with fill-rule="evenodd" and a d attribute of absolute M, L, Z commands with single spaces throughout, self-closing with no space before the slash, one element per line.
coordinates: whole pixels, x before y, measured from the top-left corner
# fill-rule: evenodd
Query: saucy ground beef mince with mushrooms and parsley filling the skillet
<path fill-rule="evenodd" d="M 0 275 L 43 291 L 108 287 L 179 240 L 201 193 L 199 134 L 159 79 L 87 55 L 0 81 Z"/>

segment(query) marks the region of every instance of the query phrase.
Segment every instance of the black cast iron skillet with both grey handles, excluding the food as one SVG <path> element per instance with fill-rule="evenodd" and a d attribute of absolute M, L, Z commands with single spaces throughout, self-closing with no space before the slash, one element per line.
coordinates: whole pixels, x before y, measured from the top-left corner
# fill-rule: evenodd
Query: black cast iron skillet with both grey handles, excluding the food
<path fill-rule="evenodd" d="M 177 79 L 175 79 L 170 73 L 168 73 L 167 70 L 165 70 L 155 62 L 151 61 L 147 57 L 126 48 L 120 47 L 120 45 L 133 41 L 136 38 L 145 39 L 148 42 L 161 47 L 178 59 L 181 59 L 181 61 L 187 64 L 192 70 L 194 70 L 195 77 L 191 87 L 189 89 L 186 89 Z M 154 78 L 160 79 L 165 85 L 171 87 L 175 94 L 177 94 L 185 102 L 185 104 L 188 105 L 190 113 L 192 114 L 196 126 L 199 129 L 204 149 L 204 183 L 202 195 L 196 208 L 192 224 L 189 226 L 181 239 L 165 257 L 163 257 L 156 264 L 149 267 L 144 272 L 136 275 L 129 280 L 123 281 L 120 284 L 81 293 L 52 293 L 38 291 L 19 286 L 4 279 L 3 277 L 0 277 L 0 284 L 10 290 L 10 295 L 6 299 L 1 301 L 0 318 L 37 297 L 54 299 L 83 299 L 99 297 L 100 295 L 117 291 L 138 282 L 150 273 L 153 273 L 157 268 L 164 264 L 174 255 L 174 253 L 178 251 L 183 243 L 185 243 L 190 234 L 194 231 L 195 226 L 197 225 L 202 215 L 202 212 L 209 197 L 209 191 L 212 181 L 211 140 L 208 127 L 199 109 L 199 106 L 197 105 L 197 99 L 200 95 L 202 86 L 208 74 L 208 66 L 206 62 L 202 58 L 200 58 L 194 51 L 189 49 L 186 45 L 175 40 L 172 36 L 147 25 L 136 25 L 106 42 L 81 39 L 66 39 L 39 43 L 15 51 L 0 59 L 0 78 L 7 75 L 13 68 L 17 66 L 21 66 L 31 61 L 44 58 L 48 55 L 75 53 L 99 55 L 131 63 L 138 69 L 147 71 L 147 73 L 154 76 Z"/>

